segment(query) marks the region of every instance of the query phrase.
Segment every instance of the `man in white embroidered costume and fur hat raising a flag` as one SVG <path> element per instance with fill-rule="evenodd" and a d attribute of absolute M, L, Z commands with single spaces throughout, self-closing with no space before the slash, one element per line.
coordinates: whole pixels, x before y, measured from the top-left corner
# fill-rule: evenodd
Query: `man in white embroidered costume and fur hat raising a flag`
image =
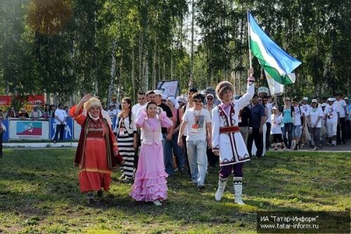
<path fill-rule="evenodd" d="M 230 82 L 220 82 L 216 87 L 217 96 L 222 102 L 212 110 L 212 145 L 215 155 L 220 157 L 220 174 L 218 190 L 215 198 L 219 201 L 224 193 L 227 178 L 234 176 L 235 202 L 244 204 L 242 194 L 242 167 L 243 163 L 250 160 L 244 138 L 242 138 L 238 123 L 239 111 L 249 105 L 255 93 L 253 85 L 253 69 L 249 70 L 247 92 L 239 100 L 232 100 L 233 86 Z"/>

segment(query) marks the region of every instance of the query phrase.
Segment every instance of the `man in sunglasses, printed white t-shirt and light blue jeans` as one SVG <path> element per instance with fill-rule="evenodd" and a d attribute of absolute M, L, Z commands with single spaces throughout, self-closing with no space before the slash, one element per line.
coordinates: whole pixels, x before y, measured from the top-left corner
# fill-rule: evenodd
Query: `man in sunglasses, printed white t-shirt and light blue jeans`
<path fill-rule="evenodd" d="M 208 110 L 202 108 L 201 94 L 194 93 L 192 100 L 194 108 L 188 109 L 183 115 L 178 145 L 183 146 L 182 136 L 187 129 L 187 157 L 192 182 L 197 183 L 199 190 L 203 190 L 207 171 L 206 148 L 212 148 L 212 120 Z"/>

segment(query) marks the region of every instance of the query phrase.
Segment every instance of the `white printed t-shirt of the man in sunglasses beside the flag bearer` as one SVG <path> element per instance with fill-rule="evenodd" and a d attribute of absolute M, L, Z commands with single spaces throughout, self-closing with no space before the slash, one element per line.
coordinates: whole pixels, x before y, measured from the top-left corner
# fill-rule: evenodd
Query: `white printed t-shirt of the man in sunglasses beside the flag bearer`
<path fill-rule="evenodd" d="M 187 122 L 187 141 L 204 141 L 206 140 L 206 124 L 211 123 L 211 115 L 208 110 L 202 108 L 201 110 L 194 110 L 190 108 L 185 111 L 183 121 Z M 193 124 L 197 119 L 197 132 L 192 130 Z"/>

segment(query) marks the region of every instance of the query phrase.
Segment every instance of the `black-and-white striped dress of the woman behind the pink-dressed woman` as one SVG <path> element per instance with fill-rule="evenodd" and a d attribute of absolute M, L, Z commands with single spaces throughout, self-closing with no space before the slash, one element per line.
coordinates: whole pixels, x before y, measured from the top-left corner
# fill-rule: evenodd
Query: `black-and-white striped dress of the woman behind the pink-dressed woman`
<path fill-rule="evenodd" d="M 134 117 L 131 117 L 131 124 L 129 123 L 129 117 L 117 117 L 116 123 L 117 132 L 117 144 L 119 148 L 119 154 L 124 159 L 122 167 L 123 175 L 126 178 L 133 178 L 134 175 L 134 153 L 133 147 L 134 133 L 136 133 L 136 126 Z"/>

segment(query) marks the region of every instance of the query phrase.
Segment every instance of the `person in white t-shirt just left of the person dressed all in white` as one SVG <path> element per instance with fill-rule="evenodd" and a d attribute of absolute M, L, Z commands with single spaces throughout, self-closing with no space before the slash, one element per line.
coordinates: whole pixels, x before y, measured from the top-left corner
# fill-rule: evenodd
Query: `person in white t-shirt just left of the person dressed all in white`
<path fill-rule="evenodd" d="M 314 143 L 314 148 L 312 150 L 315 151 L 319 148 L 322 149 L 319 135 L 322 128 L 323 110 L 318 106 L 317 99 L 312 99 L 311 108 L 307 110 L 306 115 L 308 122 L 310 122 L 310 129 Z"/>

